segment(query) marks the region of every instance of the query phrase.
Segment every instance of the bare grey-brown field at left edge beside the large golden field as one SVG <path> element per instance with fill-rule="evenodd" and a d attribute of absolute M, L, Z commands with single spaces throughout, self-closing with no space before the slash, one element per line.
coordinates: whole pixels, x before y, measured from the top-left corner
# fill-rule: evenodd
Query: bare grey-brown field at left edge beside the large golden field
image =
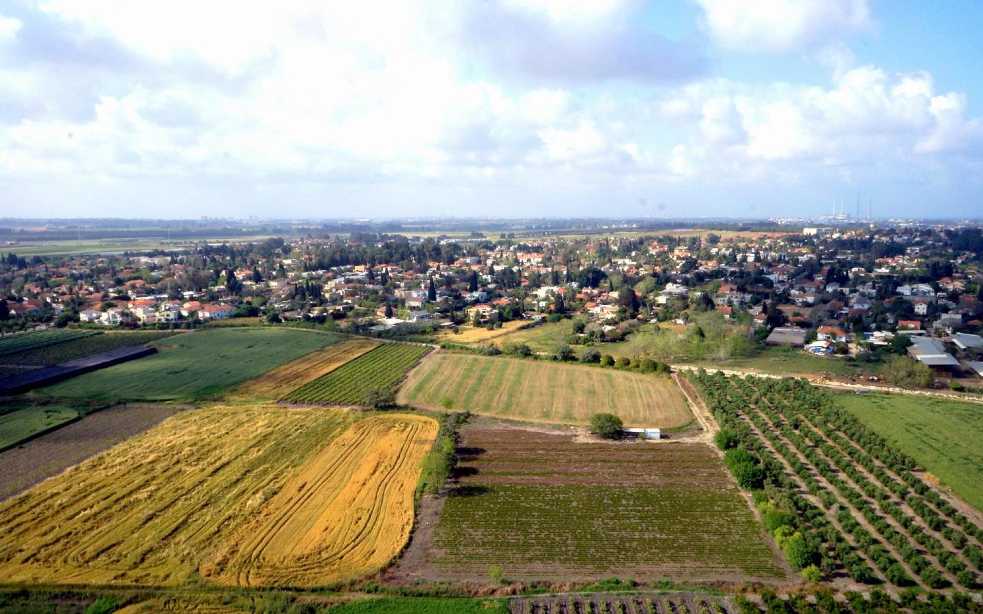
<path fill-rule="evenodd" d="M 111 407 L 0 452 L 0 500 L 60 474 L 180 410 L 173 405 Z"/>

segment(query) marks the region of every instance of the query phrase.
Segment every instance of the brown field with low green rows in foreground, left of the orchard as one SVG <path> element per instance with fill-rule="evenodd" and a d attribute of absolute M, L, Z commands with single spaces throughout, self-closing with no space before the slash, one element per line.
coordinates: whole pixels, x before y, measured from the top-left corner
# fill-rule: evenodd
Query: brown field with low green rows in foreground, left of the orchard
<path fill-rule="evenodd" d="M 786 578 L 705 444 L 581 443 L 561 430 L 474 424 L 458 452 L 459 481 L 431 543 L 415 538 L 397 577 L 488 581 L 500 568 L 515 582 Z"/>

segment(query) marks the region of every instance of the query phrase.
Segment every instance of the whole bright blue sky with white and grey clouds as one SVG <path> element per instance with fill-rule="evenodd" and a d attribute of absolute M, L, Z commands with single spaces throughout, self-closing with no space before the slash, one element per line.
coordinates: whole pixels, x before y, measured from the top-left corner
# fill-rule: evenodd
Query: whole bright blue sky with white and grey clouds
<path fill-rule="evenodd" d="M 0 2 L 0 216 L 983 215 L 983 3 Z"/>

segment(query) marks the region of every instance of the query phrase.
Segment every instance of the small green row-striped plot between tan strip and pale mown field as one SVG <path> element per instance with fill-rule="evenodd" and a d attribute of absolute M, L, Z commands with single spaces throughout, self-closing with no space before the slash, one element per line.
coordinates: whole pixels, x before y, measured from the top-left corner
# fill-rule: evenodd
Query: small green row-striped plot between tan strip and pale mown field
<path fill-rule="evenodd" d="M 367 405 L 373 391 L 390 390 L 430 352 L 427 346 L 384 343 L 286 395 L 288 403 Z"/>

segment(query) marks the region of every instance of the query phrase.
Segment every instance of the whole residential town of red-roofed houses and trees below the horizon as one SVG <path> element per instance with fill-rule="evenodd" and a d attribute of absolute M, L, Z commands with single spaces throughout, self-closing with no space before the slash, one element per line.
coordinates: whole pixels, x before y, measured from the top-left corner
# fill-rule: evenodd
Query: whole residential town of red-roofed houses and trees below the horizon
<path fill-rule="evenodd" d="M 983 376 L 978 228 L 475 234 L 352 233 L 71 257 L 11 251 L 0 266 L 0 320 L 10 333 L 252 317 L 420 337 L 575 318 L 581 339 L 572 343 L 586 345 L 621 341 L 642 325 L 693 341 L 694 324 L 713 320 L 732 341 L 715 351 L 723 358 L 734 347 L 788 346 L 831 361 L 888 352 L 935 378 Z"/>

